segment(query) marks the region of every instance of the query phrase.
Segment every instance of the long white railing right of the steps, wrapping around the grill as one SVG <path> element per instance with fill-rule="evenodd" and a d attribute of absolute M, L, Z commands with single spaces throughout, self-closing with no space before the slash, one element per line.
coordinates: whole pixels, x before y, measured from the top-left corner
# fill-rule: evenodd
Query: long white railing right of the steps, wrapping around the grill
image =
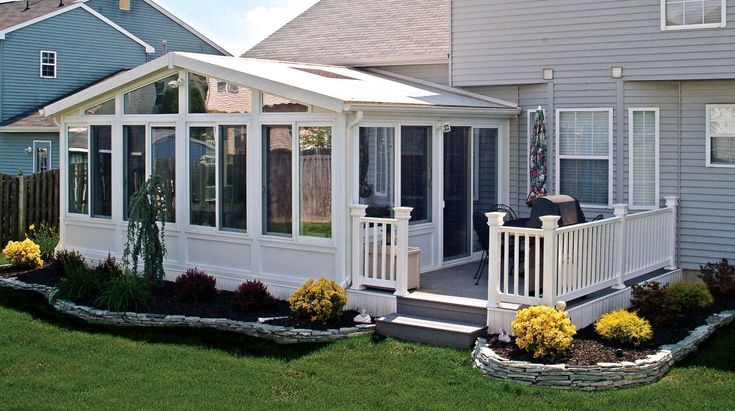
<path fill-rule="evenodd" d="M 675 267 L 677 198 L 666 208 L 559 227 L 558 216 L 542 228 L 507 227 L 505 213 L 488 213 L 490 249 L 488 306 L 569 301 L 627 279 Z"/>

